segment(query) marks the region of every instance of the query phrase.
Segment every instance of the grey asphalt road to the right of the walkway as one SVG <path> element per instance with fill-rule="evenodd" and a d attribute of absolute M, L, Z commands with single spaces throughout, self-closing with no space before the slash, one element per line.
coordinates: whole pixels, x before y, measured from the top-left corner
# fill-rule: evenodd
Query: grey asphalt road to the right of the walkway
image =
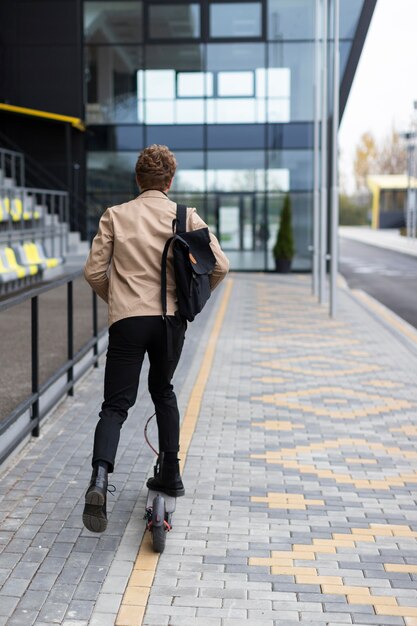
<path fill-rule="evenodd" d="M 340 273 L 417 328 L 417 257 L 340 238 Z"/>

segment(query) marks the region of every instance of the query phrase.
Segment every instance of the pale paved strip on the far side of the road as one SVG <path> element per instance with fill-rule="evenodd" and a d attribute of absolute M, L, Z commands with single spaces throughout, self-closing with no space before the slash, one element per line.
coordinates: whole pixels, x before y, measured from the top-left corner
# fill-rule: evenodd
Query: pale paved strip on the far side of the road
<path fill-rule="evenodd" d="M 340 226 L 339 236 L 362 243 L 417 256 L 417 239 L 402 237 L 398 228 L 369 228 L 368 226 Z"/>

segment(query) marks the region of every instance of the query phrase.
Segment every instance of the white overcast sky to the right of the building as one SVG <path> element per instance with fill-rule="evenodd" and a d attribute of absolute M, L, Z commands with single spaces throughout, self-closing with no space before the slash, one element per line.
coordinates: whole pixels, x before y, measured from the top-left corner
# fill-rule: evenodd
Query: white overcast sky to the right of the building
<path fill-rule="evenodd" d="M 366 0 L 365 0 L 366 1 Z M 417 120 L 417 0 L 378 0 L 339 133 L 340 173 L 353 192 L 355 148 L 364 132 L 381 140 Z"/>

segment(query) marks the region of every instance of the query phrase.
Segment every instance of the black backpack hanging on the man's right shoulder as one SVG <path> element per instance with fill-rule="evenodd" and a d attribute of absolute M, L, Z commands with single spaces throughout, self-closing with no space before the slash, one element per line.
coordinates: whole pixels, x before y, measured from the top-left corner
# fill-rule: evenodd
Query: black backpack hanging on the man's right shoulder
<path fill-rule="evenodd" d="M 164 247 L 161 263 L 162 314 L 167 313 L 167 256 L 172 244 L 175 284 L 179 315 L 192 322 L 210 298 L 209 276 L 216 264 L 210 248 L 208 228 L 187 232 L 187 207 L 177 204 L 177 217 L 172 223 L 172 232 Z"/>

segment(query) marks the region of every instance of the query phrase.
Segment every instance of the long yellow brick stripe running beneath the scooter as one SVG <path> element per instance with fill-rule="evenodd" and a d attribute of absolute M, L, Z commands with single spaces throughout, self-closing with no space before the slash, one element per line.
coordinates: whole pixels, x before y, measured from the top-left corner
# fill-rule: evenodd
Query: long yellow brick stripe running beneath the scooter
<path fill-rule="evenodd" d="M 181 424 L 180 449 L 181 449 L 181 472 L 184 468 L 188 448 L 197 424 L 201 402 L 210 376 L 216 353 L 217 342 L 226 315 L 233 280 L 228 280 L 223 292 L 222 301 L 217 311 L 216 319 L 210 333 L 206 351 L 201 362 L 200 371 L 191 391 L 188 405 Z M 149 593 L 158 565 L 159 554 L 153 551 L 151 533 L 143 535 L 139 552 L 136 557 L 133 572 L 127 583 L 125 593 L 116 618 L 115 626 L 141 626 L 145 615 Z"/>

